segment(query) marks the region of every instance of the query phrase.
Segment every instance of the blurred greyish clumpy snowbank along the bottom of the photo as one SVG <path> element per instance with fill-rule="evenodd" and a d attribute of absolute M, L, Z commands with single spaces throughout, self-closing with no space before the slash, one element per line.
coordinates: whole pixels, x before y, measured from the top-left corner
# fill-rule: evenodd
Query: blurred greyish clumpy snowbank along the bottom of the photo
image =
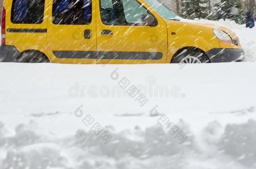
<path fill-rule="evenodd" d="M 221 132 L 222 127 L 219 122 L 213 121 L 201 129 L 198 135 L 189 133 L 190 126 L 184 122 L 183 125 L 180 123 L 177 125 L 186 131 L 189 138 L 185 144 L 179 144 L 159 125 L 152 125 L 145 130 L 137 126 L 133 130 L 115 133 L 108 144 L 102 143 L 92 132 L 82 129 L 61 139 L 49 139 L 39 131 L 35 131 L 37 135 L 41 135 L 41 138 L 34 140 L 34 143 L 28 142 L 24 145 L 11 141 L 14 138 L 23 139 L 16 133 L 13 137 L 0 139 L 2 147 L 0 166 L 1 169 L 254 169 L 256 167 L 255 120 L 242 124 L 227 124 L 224 126 L 224 133 Z M 141 140 L 130 139 L 127 134 L 139 137 Z M 34 139 L 33 136 L 31 138 Z M 29 140 L 27 138 L 27 141 Z"/>

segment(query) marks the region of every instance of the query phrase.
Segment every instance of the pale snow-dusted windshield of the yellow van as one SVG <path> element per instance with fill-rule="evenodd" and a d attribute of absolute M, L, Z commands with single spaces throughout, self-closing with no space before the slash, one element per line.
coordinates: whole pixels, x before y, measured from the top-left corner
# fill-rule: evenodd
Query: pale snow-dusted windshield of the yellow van
<path fill-rule="evenodd" d="M 159 15 L 165 19 L 176 18 L 177 15 L 158 0 L 145 0 Z"/>

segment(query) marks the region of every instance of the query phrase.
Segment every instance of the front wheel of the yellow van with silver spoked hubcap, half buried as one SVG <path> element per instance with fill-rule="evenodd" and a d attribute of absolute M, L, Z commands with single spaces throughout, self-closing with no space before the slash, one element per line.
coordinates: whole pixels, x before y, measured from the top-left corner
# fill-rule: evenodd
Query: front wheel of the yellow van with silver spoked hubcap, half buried
<path fill-rule="evenodd" d="M 184 49 L 172 58 L 171 63 L 209 63 L 208 56 L 195 48 Z"/>

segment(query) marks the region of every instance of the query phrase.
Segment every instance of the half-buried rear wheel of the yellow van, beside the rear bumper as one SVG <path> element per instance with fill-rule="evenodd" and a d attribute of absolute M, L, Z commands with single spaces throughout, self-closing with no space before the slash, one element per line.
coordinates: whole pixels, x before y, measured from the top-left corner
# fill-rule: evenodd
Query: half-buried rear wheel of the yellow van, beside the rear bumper
<path fill-rule="evenodd" d="M 26 52 L 22 53 L 18 58 L 20 63 L 50 63 L 49 59 L 39 52 Z"/>

